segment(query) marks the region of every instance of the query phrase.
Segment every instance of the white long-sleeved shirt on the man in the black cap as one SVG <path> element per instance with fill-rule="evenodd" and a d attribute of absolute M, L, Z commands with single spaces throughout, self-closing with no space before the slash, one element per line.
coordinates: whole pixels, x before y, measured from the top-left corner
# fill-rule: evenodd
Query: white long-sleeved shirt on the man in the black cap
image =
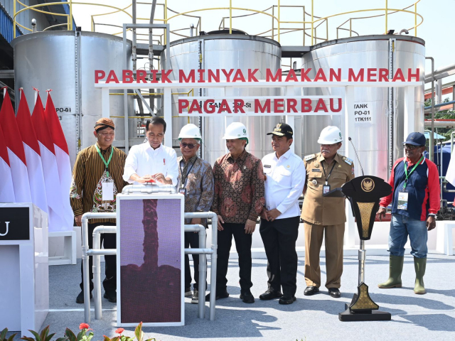
<path fill-rule="evenodd" d="M 289 149 L 280 158 L 270 153 L 262 158 L 266 175 L 265 207 L 282 212 L 277 219 L 300 216 L 299 197 L 304 190 L 306 171 L 304 161 Z"/>

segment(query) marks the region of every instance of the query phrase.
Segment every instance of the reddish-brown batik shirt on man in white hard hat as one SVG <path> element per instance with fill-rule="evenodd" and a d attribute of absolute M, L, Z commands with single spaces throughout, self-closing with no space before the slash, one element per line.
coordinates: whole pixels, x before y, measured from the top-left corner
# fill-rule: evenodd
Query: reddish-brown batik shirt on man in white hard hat
<path fill-rule="evenodd" d="M 262 162 L 247 151 L 234 160 L 230 153 L 213 166 L 215 197 L 212 211 L 225 222 L 256 221 L 265 203 Z"/>

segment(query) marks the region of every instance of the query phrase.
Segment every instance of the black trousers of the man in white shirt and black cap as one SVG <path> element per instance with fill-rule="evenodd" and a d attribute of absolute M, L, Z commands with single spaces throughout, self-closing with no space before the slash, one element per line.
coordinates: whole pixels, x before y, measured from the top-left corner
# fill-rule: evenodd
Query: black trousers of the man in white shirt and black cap
<path fill-rule="evenodd" d="M 267 281 L 274 291 L 283 289 L 286 295 L 296 293 L 297 252 L 300 217 L 276 219 L 273 222 L 261 219 L 259 233 L 267 254 Z"/>

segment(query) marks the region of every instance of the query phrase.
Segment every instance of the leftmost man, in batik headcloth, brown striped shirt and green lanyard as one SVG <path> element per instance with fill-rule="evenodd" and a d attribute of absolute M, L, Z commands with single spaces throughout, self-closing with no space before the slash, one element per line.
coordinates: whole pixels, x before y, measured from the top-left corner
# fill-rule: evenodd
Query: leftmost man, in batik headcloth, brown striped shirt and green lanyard
<path fill-rule="evenodd" d="M 82 224 L 82 215 L 86 212 L 115 212 L 116 195 L 122 193 L 124 182 L 122 178 L 127 154 L 112 146 L 114 141 L 114 122 L 102 118 L 95 124 L 93 135 L 97 143 L 82 149 L 77 154 L 73 168 L 73 183 L 70 189 L 70 202 L 75 215 L 77 226 Z M 95 227 L 115 226 L 115 219 L 92 219 L 88 224 L 88 235 L 91 236 Z M 101 234 L 101 243 L 105 249 L 115 249 L 115 234 Z M 93 248 L 92 238 L 88 246 Z M 102 282 L 105 288 L 105 298 L 109 302 L 117 302 L 117 265 L 115 256 L 105 256 L 106 278 Z M 92 257 L 89 258 L 90 298 L 93 290 Z M 82 266 L 81 266 L 82 272 Z M 76 303 L 84 303 L 83 274 L 80 282 L 82 291 L 76 298 Z"/>

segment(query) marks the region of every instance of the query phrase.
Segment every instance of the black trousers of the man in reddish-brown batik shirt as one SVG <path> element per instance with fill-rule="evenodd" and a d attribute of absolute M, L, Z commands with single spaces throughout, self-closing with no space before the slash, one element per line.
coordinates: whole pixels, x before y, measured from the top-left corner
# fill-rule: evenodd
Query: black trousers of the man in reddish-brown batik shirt
<path fill-rule="evenodd" d="M 239 276 L 240 289 L 250 290 L 253 286 L 251 282 L 251 241 L 252 235 L 245 233 L 245 224 L 232 224 L 225 222 L 223 231 L 218 231 L 218 260 L 216 273 L 216 290 L 224 291 L 227 288 L 229 251 L 232 246 L 232 236 L 234 236 L 235 247 L 239 255 Z"/>

